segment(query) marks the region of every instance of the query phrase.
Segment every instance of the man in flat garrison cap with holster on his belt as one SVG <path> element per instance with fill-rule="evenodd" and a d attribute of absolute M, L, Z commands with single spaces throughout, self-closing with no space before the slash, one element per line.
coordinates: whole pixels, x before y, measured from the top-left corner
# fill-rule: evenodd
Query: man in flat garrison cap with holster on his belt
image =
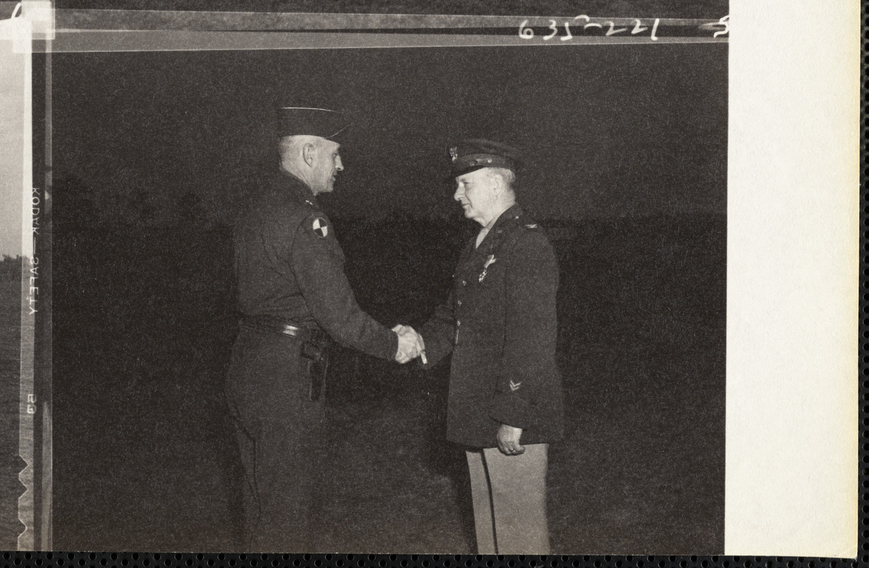
<path fill-rule="evenodd" d="M 244 470 L 249 551 L 311 551 L 330 342 L 401 362 L 421 351 L 413 329 L 383 327 L 356 304 L 335 231 L 317 203 L 343 169 L 336 137 L 348 124 L 333 110 L 280 109 L 279 167 L 235 227 L 242 319 L 227 400 Z"/>

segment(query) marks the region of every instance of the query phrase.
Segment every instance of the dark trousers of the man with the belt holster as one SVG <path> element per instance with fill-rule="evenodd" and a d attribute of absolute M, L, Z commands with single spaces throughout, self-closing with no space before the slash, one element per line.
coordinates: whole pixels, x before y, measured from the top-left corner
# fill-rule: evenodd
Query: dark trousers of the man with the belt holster
<path fill-rule="evenodd" d="M 244 470 L 246 551 L 309 552 L 320 477 L 322 400 L 311 401 L 301 343 L 242 328 L 227 380 L 229 411 Z"/>

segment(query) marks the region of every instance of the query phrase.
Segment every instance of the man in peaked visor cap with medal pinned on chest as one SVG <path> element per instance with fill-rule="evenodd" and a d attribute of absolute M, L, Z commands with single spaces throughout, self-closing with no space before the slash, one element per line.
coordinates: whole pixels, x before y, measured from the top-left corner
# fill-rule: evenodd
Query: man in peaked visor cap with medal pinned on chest
<path fill-rule="evenodd" d="M 478 551 L 547 554 L 547 448 L 563 431 L 558 265 L 515 201 L 516 151 L 469 140 L 450 155 L 454 198 L 482 230 L 421 328 L 427 366 L 453 353 L 447 437 L 467 448 Z"/>

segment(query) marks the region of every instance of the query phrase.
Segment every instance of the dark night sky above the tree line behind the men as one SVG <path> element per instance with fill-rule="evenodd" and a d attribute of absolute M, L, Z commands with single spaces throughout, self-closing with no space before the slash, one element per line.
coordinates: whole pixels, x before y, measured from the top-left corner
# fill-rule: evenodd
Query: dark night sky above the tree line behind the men
<path fill-rule="evenodd" d="M 726 211 L 726 44 L 57 54 L 55 179 L 97 208 L 232 215 L 274 162 L 276 104 L 342 109 L 333 215 L 452 211 L 447 148 L 521 150 L 540 217 Z"/>

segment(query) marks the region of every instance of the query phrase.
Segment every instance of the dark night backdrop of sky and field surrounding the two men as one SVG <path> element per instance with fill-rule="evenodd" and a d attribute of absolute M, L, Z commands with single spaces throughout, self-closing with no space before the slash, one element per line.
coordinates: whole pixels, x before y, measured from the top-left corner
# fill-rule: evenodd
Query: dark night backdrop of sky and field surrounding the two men
<path fill-rule="evenodd" d="M 720 17 L 715 14 L 711 17 Z M 726 44 L 56 54 L 54 547 L 237 547 L 230 231 L 275 102 L 356 117 L 322 200 L 369 314 L 418 325 L 477 229 L 446 146 L 526 156 L 559 256 L 556 553 L 724 543 Z M 472 552 L 448 367 L 335 353 L 322 551 Z"/>

